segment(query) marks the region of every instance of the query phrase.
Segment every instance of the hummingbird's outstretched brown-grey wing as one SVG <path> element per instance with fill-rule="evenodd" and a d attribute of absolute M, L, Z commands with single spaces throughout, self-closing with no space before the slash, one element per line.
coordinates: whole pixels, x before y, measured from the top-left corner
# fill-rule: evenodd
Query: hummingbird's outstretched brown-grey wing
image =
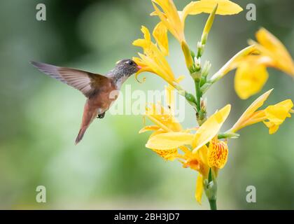
<path fill-rule="evenodd" d="M 109 83 L 109 78 L 106 76 L 90 73 L 88 71 L 59 67 L 40 62 L 31 62 L 31 64 L 52 78 L 80 90 L 85 97 L 90 97 L 95 90 L 99 90 L 100 87 Z"/>

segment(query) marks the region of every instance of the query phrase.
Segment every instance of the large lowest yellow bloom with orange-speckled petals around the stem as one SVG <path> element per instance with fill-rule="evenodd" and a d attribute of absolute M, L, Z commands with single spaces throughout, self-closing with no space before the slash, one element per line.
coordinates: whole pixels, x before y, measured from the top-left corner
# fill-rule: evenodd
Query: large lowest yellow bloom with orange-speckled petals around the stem
<path fill-rule="evenodd" d="M 230 113 L 230 105 L 214 113 L 197 129 L 196 134 L 191 134 L 191 130 L 183 130 L 174 118 L 173 92 L 174 87 L 166 87 L 167 109 L 161 104 L 151 104 L 146 108 L 146 116 L 155 125 L 146 126 L 139 133 L 154 131 L 146 144 L 147 148 L 165 160 L 179 160 L 184 168 L 190 167 L 199 172 L 195 199 L 201 204 L 203 181 L 208 178 L 209 169 L 223 168 L 228 159 L 228 146 L 225 141 L 217 139 L 217 134 Z M 194 148 L 193 151 L 188 145 Z"/>

